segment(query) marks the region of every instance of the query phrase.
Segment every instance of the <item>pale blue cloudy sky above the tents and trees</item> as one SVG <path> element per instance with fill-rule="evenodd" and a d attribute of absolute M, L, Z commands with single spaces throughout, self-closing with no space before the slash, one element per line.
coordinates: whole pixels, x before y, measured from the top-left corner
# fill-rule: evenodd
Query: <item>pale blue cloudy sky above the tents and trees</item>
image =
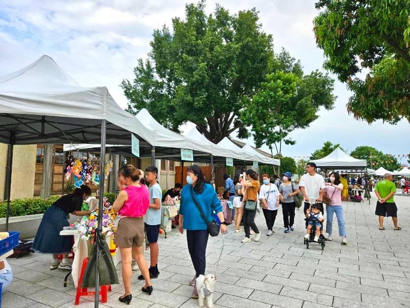
<path fill-rule="evenodd" d="M 276 51 L 284 47 L 299 58 L 304 71 L 322 69 L 323 53 L 316 47 L 312 20 L 314 1 L 219 2 L 231 13 L 256 7 L 263 30 L 273 34 Z M 154 29 L 183 18 L 185 1 L 4 1 L 0 0 L 0 75 L 47 54 L 82 86 L 107 86 L 118 105 L 127 100 L 119 84 L 132 78 L 136 60 L 147 57 Z M 207 1 L 211 13 L 215 1 Z M 350 93 L 336 82 L 335 109 L 321 110 L 308 129 L 294 131 L 295 146 L 283 146 L 287 156 L 309 156 L 326 140 L 351 151 L 369 145 L 390 154 L 410 152 L 410 124 L 392 126 L 356 121 L 346 112 Z M 190 129 L 186 125 L 183 129 Z M 248 140 L 252 144 L 252 140 Z M 405 159 L 402 159 L 405 162 Z"/>

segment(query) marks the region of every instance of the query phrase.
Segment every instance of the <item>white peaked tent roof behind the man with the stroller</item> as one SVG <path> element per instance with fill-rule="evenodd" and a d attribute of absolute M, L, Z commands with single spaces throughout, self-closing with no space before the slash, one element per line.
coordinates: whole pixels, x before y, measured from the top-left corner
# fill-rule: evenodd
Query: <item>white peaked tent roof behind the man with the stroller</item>
<path fill-rule="evenodd" d="M 336 148 L 332 153 L 323 157 L 321 159 L 314 159 L 311 162 L 316 163 L 316 166 L 319 168 L 354 168 L 358 167 L 366 168 L 367 161 L 365 159 L 356 159 L 345 152 L 343 152 L 339 147 Z"/>

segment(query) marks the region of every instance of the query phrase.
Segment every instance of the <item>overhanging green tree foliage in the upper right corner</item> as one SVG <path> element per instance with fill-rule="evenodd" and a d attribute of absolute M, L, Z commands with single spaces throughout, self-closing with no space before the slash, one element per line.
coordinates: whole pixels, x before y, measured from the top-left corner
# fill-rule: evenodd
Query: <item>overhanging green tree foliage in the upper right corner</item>
<path fill-rule="evenodd" d="M 320 0 L 316 8 L 324 68 L 353 91 L 347 111 L 368 123 L 410 121 L 410 0 Z"/>

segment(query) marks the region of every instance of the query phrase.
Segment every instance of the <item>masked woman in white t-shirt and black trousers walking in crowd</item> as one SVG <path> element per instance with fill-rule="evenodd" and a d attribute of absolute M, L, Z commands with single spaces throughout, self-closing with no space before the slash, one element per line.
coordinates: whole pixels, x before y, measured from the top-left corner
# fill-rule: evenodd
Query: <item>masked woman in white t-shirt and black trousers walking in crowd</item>
<path fill-rule="evenodd" d="M 265 216 L 266 225 L 268 227 L 268 236 L 273 235 L 272 230 L 275 223 L 276 215 L 279 207 L 279 190 L 275 184 L 271 183 L 271 177 L 268 174 L 262 175 L 263 185 L 260 187 L 259 199 L 260 206 Z"/>

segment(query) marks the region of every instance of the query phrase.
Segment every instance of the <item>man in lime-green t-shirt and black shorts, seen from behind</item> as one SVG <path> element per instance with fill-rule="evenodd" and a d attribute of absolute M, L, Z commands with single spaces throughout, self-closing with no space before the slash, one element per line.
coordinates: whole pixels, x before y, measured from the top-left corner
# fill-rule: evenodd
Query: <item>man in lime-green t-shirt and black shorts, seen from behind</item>
<path fill-rule="evenodd" d="M 375 214 L 379 216 L 379 230 L 384 230 L 384 217 L 392 217 L 394 230 L 401 230 L 401 227 L 397 225 L 397 206 L 393 199 L 394 193 L 396 192 L 396 185 L 392 180 L 392 174 L 386 173 L 384 180 L 376 184 L 375 193 L 378 201 Z"/>

